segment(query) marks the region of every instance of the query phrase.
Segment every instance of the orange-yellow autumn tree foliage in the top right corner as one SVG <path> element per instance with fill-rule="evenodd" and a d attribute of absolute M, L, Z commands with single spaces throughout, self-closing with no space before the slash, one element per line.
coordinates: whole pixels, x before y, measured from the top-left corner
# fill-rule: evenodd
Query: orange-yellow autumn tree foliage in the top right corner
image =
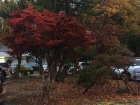
<path fill-rule="evenodd" d="M 139 2 L 137 0 L 105 0 L 95 9 L 106 9 L 97 17 L 93 17 L 93 22 L 105 26 L 111 24 L 117 26 L 126 33 L 133 31 L 134 35 L 139 34 Z"/>

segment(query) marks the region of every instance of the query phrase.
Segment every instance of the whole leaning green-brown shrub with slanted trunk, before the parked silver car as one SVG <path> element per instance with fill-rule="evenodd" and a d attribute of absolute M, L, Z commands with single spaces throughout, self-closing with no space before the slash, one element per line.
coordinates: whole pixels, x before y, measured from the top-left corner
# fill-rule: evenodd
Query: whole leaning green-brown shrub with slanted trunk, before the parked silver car
<path fill-rule="evenodd" d="M 116 69 L 123 69 L 127 72 L 127 68 L 134 64 L 134 61 L 130 59 L 132 56 L 133 53 L 130 50 L 118 44 L 105 53 L 95 56 L 95 59 L 92 61 L 92 66 L 82 70 L 81 73 L 78 74 L 75 82 L 83 86 L 88 86 L 83 92 L 83 94 L 85 94 L 95 83 L 104 85 L 104 83 L 108 82 L 107 79 L 114 78 L 115 73 L 111 69 L 111 66 L 114 66 Z M 122 78 L 122 75 L 116 75 L 116 77 Z M 127 88 L 130 87 L 127 79 L 123 79 L 123 81 Z"/>

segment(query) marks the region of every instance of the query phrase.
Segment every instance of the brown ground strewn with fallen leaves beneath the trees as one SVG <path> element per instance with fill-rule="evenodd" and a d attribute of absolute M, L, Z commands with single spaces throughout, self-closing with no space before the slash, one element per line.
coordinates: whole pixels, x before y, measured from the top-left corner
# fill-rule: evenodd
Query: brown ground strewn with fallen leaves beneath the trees
<path fill-rule="evenodd" d="M 72 80 L 72 76 L 68 75 L 64 82 L 56 82 L 51 90 L 49 103 L 44 104 L 41 76 L 21 76 L 18 80 L 7 78 L 0 101 L 6 96 L 6 105 L 140 105 L 140 96 L 120 94 L 109 84 L 94 86 L 83 95 L 85 88 L 75 85 Z M 111 86 L 117 86 L 116 80 L 109 82 Z M 123 86 L 123 82 L 119 82 Z M 137 90 L 136 83 L 130 81 L 130 84 Z"/>

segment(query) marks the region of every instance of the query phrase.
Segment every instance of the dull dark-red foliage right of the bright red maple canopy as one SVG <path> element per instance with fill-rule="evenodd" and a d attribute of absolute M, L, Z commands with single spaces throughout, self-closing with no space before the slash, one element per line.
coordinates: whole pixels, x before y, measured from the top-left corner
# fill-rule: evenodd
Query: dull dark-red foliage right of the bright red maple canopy
<path fill-rule="evenodd" d="M 113 26 L 98 27 L 91 33 L 91 39 L 96 39 L 96 49 L 103 53 L 115 46 L 119 41 L 117 36 L 121 35 L 118 28 Z"/>

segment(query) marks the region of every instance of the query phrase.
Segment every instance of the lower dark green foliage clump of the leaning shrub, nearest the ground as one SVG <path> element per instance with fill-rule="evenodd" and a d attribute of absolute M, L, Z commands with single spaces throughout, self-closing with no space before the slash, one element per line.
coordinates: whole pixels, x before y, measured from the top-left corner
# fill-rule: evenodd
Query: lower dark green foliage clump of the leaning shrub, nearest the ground
<path fill-rule="evenodd" d="M 112 78 L 112 70 L 106 68 L 87 67 L 81 70 L 77 77 L 74 78 L 74 83 L 82 85 L 83 87 L 89 86 L 91 83 L 103 85 L 107 79 Z"/>

